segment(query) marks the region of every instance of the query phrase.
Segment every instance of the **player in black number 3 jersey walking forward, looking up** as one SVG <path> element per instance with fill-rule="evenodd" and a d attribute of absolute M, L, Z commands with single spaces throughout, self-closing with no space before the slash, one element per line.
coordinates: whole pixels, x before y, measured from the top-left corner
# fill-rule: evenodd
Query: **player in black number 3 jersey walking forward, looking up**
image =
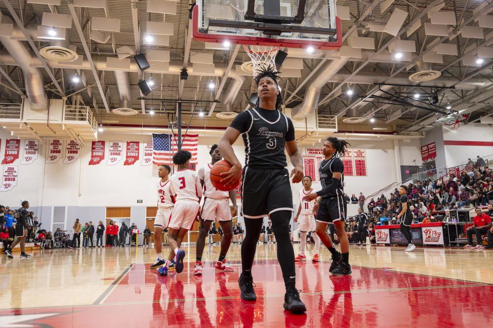
<path fill-rule="evenodd" d="M 294 251 L 289 238 L 289 222 L 293 211 L 293 197 L 286 169 L 285 149 L 293 164 L 292 182 L 303 178 L 302 157 L 296 145 L 293 122 L 279 111 L 281 98 L 277 72 L 262 70 L 255 78 L 258 103 L 255 108 L 239 114 L 219 141 L 219 150 L 233 167 L 223 173 L 228 185 L 241 176 L 241 164 L 232 144 L 243 136 L 245 167 L 241 185 L 241 211 L 247 235 L 241 246 L 242 273 L 238 283 L 243 300 L 256 300 L 253 289 L 252 265 L 263 218 L 270 217 L 277 241 L 277 259 L 286 285 L 284 308 L 294 313 L 305 312 L 295 286 Z"/>

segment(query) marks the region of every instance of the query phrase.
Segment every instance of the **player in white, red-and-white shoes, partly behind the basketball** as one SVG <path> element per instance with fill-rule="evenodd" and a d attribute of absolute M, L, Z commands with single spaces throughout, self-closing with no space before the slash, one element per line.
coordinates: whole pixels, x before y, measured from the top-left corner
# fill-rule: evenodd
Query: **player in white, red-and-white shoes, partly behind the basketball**
<path fill-rule="evenodd" d="M 230 201 L 233 202 L 234 215 L 237 213 L 236 206 L 236 191 L 221 191 L 214 187 L 211 182 L 210 172 L 212 165 L 222 159 L 222 155 L 217 148 L 217 145 L 213 145 L 209 151 L 212 161 L 211 164 L 206 164 L 199 168 L 198 177 L 200 183 L 204 186 L 204 204 L 202 206 L 201 220 L 200 220 L 200 233 L 197 238 L 197 259 L 195 262 L 194 275 L 202 274 L 202 253 L 204 252 L 205 238 L 207 237 L 207 231 L 209 231 L 211 224 L 217 219 L 221 226 L 224 235 L 221 240 L 221 251 L 219 258 L 215 264 L 215 268 L 218 271 L 231 272 L 234 271 L 233 267 L 226 261 L 226 253 L 231 245 L 231 238 L 233 237 L 232 217 L 230 210 Z"/>

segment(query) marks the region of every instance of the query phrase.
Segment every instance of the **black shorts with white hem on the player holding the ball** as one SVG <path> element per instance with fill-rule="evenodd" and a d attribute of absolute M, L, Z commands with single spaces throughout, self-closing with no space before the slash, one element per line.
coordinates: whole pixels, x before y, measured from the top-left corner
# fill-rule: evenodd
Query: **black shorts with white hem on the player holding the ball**
<path fill-rule="evenodd" d="M 293 211 L 293 197 L 286 168 L 253 168 L 243 170 L 241 215 L 260 219 L 279 210 Z"/>

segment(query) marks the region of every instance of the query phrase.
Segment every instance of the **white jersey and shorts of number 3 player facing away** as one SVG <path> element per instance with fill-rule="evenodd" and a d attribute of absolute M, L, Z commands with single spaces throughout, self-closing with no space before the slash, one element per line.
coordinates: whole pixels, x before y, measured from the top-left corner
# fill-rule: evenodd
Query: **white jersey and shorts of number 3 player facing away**
<path fill-rule="evenodd" d="M 199 213 L 199 200 L 203 194 L 197 173 L 189 169 L 178 170 L 171 177 L 169 191 L 172 195 L 176 195 L 176 203 L 168 227 L 192 229 Z"/>

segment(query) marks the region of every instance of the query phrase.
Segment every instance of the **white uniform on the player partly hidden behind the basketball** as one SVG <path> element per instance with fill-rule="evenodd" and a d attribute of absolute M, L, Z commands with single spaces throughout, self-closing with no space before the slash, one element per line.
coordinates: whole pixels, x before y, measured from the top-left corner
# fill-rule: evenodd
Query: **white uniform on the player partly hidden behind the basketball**
<path fill-rule="evenodd" d="M 204 221 L 231 221 L 231 209 L 227 191 L 216 189 L 211 182 L 211 164 L 204 165 L 197 173 L 199 180 L 204 181 L 204 204 L 201 217 Z"/>

